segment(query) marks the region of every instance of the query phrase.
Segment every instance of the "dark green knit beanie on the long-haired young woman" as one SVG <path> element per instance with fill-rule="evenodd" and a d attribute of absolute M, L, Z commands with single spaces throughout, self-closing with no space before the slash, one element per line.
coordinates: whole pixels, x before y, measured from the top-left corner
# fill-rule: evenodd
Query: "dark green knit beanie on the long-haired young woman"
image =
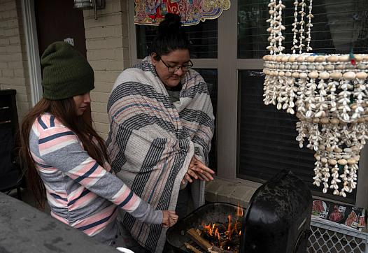
<path fill-rule="evenodd" d="M 43 97 L 67 99 L 94 89 L 94 73 L 85 57 L 72 45 L 58 41 L 41 56 Z"/>

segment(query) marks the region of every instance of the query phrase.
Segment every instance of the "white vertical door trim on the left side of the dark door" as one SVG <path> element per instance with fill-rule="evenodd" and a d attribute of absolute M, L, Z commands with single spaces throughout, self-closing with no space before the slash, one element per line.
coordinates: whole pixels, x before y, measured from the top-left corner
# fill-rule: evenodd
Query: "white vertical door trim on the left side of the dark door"
<path fill-rule="evenodd" d="M 31 105 L 34 106 L 42 97 L 41 65 L 38 52 L 36 17 L 34 15 L 34 0 L 22 0 L 22 16 L 26 38 Z"/>

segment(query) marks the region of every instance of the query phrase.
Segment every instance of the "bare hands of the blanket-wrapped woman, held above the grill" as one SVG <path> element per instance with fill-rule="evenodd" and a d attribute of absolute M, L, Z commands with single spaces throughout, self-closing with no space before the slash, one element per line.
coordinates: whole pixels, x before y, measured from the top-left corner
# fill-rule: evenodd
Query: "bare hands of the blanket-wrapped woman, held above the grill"
<path fill-rule="evenodd" d="M 199 159 L 196 157 L 192 157 L 192 160 L 190 161 L 189 168 L 187 169 L 187 173 L 185 173 L 185 176 L 183 180 L 181 180 L 182 184 L 184 185 L 185 182 L 193 182 L 194 179 L 199 180 L 205 180 L 205 181 L 211 181 L 213 180 L 212 175 L 215 174 L 214 171 L 211 170 L 211 168 L 208 168 L 206 165 L 204 165 Z"/>

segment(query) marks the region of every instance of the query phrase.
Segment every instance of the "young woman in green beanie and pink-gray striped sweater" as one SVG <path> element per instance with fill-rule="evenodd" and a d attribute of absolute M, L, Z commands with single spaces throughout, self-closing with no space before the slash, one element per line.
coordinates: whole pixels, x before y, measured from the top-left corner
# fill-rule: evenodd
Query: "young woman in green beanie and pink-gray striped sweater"
<path fill-rule="evenodd" d="M 47 196 L 52 217 L 110 245 L 121 241 L 118 209 L 141 222 L 175 224 L 174 211 L 154 210 L 114 175 L 104 140 L 81 117 L 94 89 L 83 55 L 68 43 L 52 43 L 41 66 L 43 99 L 21 128 L 21 157 L 38 205 Z"/>

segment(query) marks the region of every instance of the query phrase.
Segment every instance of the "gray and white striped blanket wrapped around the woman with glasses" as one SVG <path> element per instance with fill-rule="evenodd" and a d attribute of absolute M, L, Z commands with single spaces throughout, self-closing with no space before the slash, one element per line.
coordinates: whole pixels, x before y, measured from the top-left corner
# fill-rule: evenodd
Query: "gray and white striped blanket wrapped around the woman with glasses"
<path fill-rule="evenodd" d="M 172 103 L 146 57 L 117 78 L 110 99 L 106 144 L 113 170 L 132 191 L 157 210 L 175 210 L 178 192 L 193 155 L 208 164 L 214 129 L 206 82 L 188 71 L 180 101 Z M 193 187 L 194 188 L 194 187 Z M 204 203 L 204 184 L 194 205 Z M 150 252 L 162 252 L 166 229 L 143 224 L 128 213 L 126 229 Z"/>

